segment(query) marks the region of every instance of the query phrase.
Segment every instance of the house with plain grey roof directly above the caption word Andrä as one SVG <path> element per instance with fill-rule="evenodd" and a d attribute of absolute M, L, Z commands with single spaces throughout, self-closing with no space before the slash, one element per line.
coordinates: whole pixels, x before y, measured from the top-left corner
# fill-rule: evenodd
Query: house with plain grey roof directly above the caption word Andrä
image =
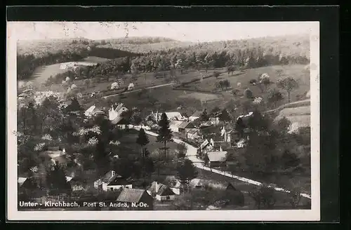
<path fill-rule="evenodd" d="M 154 209 L 153 198 L 144 189 L 123 189 L 117 198 L 117 202 L 126 203 L 128 205 L 128 207 L 124 208 L 126 210 Z M 141 203 L 143 205 L 140 205 Z"/>

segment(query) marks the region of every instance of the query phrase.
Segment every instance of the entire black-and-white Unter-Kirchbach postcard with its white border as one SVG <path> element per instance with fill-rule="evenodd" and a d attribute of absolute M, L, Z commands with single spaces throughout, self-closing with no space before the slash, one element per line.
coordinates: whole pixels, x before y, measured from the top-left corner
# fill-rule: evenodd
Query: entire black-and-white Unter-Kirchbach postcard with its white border
<path fill-rule="evenodd" d="M 319 22 L 8 22 L 6 53 L 9 220 L 319 220 Z"/>

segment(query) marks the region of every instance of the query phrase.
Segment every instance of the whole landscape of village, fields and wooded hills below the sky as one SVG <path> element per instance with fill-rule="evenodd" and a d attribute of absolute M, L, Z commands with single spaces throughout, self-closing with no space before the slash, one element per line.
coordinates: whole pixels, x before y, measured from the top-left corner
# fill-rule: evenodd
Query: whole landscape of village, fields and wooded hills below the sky
<path fill-rule="evenodd" d="M 18 210 L 311 208 L 308 36 L 18 50 Z"/>

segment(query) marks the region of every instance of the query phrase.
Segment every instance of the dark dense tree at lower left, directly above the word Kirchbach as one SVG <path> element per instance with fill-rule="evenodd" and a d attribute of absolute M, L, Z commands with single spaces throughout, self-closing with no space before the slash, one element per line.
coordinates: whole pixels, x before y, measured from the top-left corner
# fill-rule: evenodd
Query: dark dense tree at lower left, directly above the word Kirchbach
<path fill-rule="evenodd" d="M 71 185 L 66 180 L 65 170 L 58 162 L 46 170 L 46 184 L 51 194 L 70 194 Z"/>

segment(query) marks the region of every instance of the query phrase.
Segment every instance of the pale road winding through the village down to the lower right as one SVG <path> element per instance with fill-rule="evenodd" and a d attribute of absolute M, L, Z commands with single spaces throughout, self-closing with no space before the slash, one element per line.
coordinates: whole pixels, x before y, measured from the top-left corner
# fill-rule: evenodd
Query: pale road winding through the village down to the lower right
<path fill-rule="evenodd" d="M 135 130 L 139 130 L 140 129 L 140 128 L 133 127 L 133 126 L 131 128 L 134 128 Z M 149 130 L 145 130 L 145 133 L 147 133 L 148 135 L 154 136 L 154 137 L 158 136 L 157 133 L 150 132 Z M 201 161 L 200 159 L 197 158 L 197 147 L 193 147 L 191 144 L 188 144 L 187 142 L 183 142 L 183 140 L 179 140 L 179 139 L 176 139 L 176 138 L 173 138 L 173 141 L 178 143 L 178 144 L 180 144 L 180 143 L 185 144 L 185 146 L 187 147 L 186 156 L 187 156 L 187 158 L 190 161 L 192 161 L 192 163 L 194 163 L 194 166 L 197 167 L 197 168 L 201 168 L 201 169 L 206 170 L 206 171 L 214 172 L 214 173 L 223 175 L 225 177 L 232 177 L 234 179 L 240 180 L 242 182 L 246 182 L 248 184 L 254 184 L 254 185 L 257 185 L 257 186 L 262 184 L 261 182 L 256 182 L 255 180 L 250 180 L 250 179 L 245 178 L 245 177 L 239 177 L 237 175 L 233 175 L 230 172 L 224 172 L 224 171 L 221 171 L 221 170 L 208 168 L 208 167 L 203 165 L 204 161 Z M 282 188 L 279 188 L 279 187 L 274 187 L 274 190 L 276 190 L 276 191 L 283 191 L 283 192 L 286 192 L 286 193 L 290 192 L 288 190 L 285 190 L 285 189 L 282 189 Z M 300 194 L 300 195 L 305 197 L 305 198 L 309 198 L 309 199 L 311 198 L 311 196 L 309 194 Z"/>

